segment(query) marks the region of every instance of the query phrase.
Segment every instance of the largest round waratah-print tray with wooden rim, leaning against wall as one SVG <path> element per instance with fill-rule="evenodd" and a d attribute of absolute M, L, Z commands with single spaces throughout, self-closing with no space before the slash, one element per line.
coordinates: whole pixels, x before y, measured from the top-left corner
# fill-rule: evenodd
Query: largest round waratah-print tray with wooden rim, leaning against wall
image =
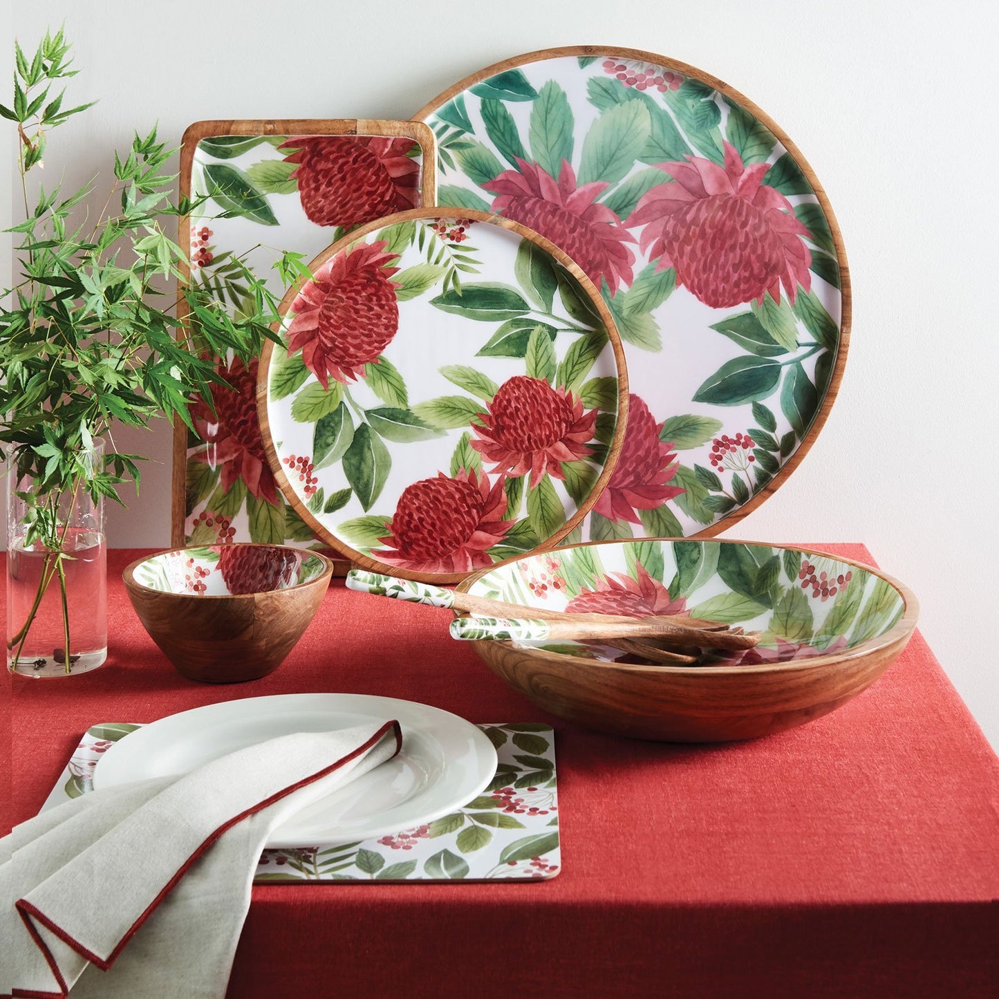
<path fill-rule="evenodd" d="M 416 118 L 441 204 L 561 247 L 624 341 L 620 461 L 568 540 L 706 535 L 780 485 L 837 392 L 846 258 L 814 174 L 758 108 L 633 49 L 532 52 Z"/>

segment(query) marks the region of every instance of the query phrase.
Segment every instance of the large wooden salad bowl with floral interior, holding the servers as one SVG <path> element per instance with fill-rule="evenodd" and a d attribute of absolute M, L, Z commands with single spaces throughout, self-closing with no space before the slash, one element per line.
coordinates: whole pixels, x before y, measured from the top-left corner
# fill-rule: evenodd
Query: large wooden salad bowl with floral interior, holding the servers
<path fill-rule="evenodd" d="M 507 559 L 458 588 L 525 607 L 679 609 L 762 631 L 741 662 L 697 666 L 628 664 L 613 661 L 619 651 L 585 645 L 473 643 L 493 672 L 552 714 L 665 742 L 754 738 L 828 714 L 888 668 L 918 614 L 910 590 L 868 565 L 742 541 L 571 545 Z M 671 601 L 682 604 L 664 611 Z"/>

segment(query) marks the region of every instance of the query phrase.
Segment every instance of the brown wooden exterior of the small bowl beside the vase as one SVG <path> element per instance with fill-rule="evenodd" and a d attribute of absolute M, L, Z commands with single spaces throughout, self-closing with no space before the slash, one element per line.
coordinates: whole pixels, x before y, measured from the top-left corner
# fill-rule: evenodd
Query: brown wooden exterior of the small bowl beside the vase
<path fill-rule="evenodd" d="M 263 593 L 199 596 L 151 589 L 135 580 L 132 562 L 122 577 L 142 626 L 178 672 L 202 683 L 238 683 L 273 672 L 305 633 L 333 577 L 333 560 L 308 582 Z M 162 552 L 166 554 L 167 552 Z M 155 557 L 155 556 L 151 556 Z"/>

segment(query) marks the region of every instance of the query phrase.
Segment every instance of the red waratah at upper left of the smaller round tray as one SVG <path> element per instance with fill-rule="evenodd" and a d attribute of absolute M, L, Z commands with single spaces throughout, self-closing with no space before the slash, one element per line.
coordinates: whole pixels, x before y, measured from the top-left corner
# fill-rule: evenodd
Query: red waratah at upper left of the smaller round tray
<path fill-rule="evenodd" d="M 384 240 L 339 253 L 319 267 L 292 305 L 288 353 L 302 352 L 322 383 L 345 385 L 377 361 L 399 331 L 399 302 Z"/>

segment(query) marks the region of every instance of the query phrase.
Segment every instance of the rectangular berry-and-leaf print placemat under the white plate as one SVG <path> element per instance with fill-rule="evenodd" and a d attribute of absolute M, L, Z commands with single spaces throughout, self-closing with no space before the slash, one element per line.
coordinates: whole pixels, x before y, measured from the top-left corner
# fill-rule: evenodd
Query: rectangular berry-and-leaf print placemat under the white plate
<path fill-rule="evenodd" d="M 139 725 L 92 725 L 42 811 L 93 790 L 101 754 Z M 480 725 L 497 775 L 464 808 L 415 829 L 341 846 L 265 850 L 255 881 L 534 881 L 561 869 L 554 733 L 535 722 Z"/>

